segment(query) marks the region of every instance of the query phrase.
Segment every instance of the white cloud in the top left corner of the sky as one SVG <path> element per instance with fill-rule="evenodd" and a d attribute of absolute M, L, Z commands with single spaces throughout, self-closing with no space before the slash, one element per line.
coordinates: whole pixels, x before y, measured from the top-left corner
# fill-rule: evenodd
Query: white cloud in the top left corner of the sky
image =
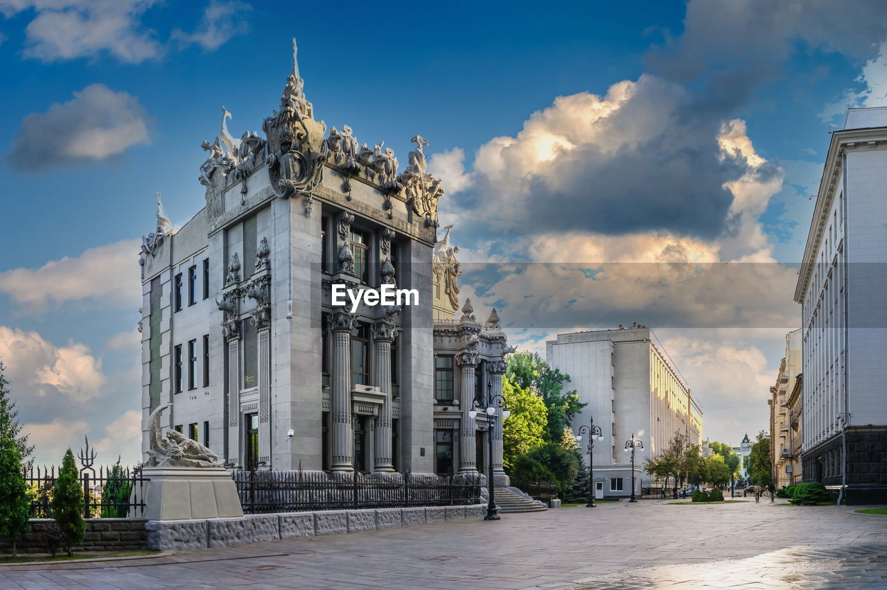
<path fill-rule="evenodd" d="M 0 2 L 7 17 L 34 9 L 23 54 L 44 62 L 107 53 L 125 63 L 158 57 L 155 32 L 141 23 L 151 0 L 31 0 Z"/>

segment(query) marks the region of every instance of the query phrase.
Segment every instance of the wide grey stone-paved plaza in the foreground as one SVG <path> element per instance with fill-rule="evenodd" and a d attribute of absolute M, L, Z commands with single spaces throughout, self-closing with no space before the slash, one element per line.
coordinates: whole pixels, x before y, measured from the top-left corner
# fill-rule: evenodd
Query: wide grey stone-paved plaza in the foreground
<path fill-rule="evenodd" d="M 887 587 L 887 517 L 601 504 L 148 560 L 0 566 L 0 588 Z"/>

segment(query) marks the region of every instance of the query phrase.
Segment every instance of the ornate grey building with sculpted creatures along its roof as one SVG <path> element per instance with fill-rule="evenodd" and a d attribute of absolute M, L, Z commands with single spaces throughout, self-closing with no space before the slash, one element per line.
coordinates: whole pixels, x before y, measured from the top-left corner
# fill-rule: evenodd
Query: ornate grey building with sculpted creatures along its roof
<path fill-rule="evenodd" d="M 428 141 L 412 138 L 402 168 L 347 125 L 327 130 L 295 51 L 261 132 L 235 138 L 231 120 L 203 142 L 206 206 L 173 231 L 158 199 L 143 240 L 143 451 L 147 417 L 171 404 L 169 428 L 232 468 L 475 476 L 492 462 L 506 484 L 501 413 L 473 409 L 501 393 L 511 349 L 495 310 L 459 300 Z M 381 304 L 383 285 L 413 296 Z M 369 295 L 334 305 L 336 286 Z"/>

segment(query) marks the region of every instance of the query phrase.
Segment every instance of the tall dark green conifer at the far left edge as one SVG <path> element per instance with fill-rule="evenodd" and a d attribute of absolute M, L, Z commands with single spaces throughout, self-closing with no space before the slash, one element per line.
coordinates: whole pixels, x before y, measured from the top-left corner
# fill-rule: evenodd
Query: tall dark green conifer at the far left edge
<path fill-rule="evenodd" d="M 0 538 L 12 541 L 12 557 L 17 557 L 17 543 L 27 532 L 30 501 L 22 473 L 23 453 L 34 447 L 27 444 L 27 436 L 20 436 L 19 411 L 6 389 L 4 365 L 0 362 Z"/>

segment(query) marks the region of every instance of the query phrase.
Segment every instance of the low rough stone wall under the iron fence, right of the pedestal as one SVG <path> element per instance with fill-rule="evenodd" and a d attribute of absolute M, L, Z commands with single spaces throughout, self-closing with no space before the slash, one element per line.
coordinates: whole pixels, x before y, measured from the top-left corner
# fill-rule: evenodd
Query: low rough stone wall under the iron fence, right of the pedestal
<path fill-rule="evenodd" d="M 159 551 L 185 551 L 208 547 L 233 547 L 257 541 L 317 537 L 343 532 L 382 531 L 415 524 L 483 518 L 486 504 L 447 507 L 324 510 L 239 518 L 145 523 L 147 544 Z"/>

